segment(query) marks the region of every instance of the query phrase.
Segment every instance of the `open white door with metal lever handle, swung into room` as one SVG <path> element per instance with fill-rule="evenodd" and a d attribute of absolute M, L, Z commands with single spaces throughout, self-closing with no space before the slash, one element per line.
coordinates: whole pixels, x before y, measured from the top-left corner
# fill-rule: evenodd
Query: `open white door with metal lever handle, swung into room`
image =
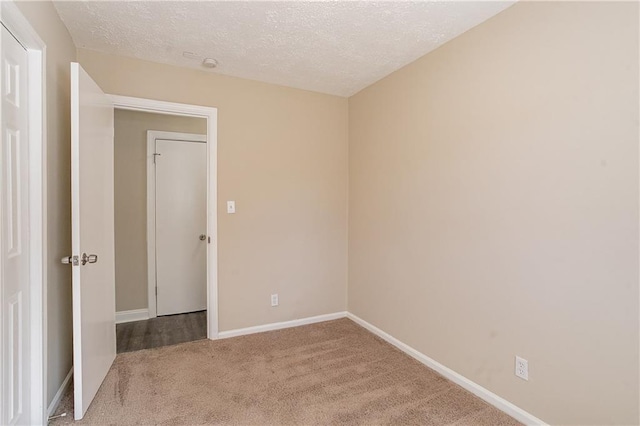
<path fill-rule="evenodd" d="M 71 64 L 74 416 L 81 419 L 116 356 L 113 104 Z"/>

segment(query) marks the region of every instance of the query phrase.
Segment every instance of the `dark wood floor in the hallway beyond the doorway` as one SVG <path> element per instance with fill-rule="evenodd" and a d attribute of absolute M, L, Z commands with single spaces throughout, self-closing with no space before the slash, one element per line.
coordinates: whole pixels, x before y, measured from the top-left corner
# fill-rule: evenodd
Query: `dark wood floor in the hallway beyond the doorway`
<path fill-rule="evenodd" d="M 139 351 L 206 339 L 207 312 L 168 315 L 116 325 L 117 352 Z"/>

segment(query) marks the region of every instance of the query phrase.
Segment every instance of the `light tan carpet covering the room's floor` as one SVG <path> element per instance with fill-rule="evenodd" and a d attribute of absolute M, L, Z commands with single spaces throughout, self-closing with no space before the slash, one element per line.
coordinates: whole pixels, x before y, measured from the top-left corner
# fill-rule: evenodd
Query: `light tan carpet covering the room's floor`
<path fill-rule="evenodd" d="M 76 423 L 519 424 L 348 319 L 119 354 Z"/>

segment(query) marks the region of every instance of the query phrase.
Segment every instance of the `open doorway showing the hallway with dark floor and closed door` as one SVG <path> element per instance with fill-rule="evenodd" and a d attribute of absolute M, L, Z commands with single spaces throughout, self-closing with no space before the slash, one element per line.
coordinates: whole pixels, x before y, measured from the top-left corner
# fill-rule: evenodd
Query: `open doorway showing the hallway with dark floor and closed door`
<path fill-rule="evenodd" d="M 114 111 L 117 352 L 207 337 L 207 120 Z"/>

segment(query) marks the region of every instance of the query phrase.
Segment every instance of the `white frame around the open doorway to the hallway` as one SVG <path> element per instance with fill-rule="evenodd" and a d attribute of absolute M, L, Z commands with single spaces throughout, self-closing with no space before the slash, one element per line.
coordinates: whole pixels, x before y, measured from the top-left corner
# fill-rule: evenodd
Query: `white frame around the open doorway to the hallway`
<path fill-rule="evenodd" d="M 218 338 L 218 109 L 129 96 L 108 95 L 115 109 L 180 115 L 207 120 L 207 337 Z M 147 235 L 147 239 L 149 236 Z M 148 244 L 148 243 L 147 243 Z M 149 307 L 150 309 L 151 307 Z"/>

